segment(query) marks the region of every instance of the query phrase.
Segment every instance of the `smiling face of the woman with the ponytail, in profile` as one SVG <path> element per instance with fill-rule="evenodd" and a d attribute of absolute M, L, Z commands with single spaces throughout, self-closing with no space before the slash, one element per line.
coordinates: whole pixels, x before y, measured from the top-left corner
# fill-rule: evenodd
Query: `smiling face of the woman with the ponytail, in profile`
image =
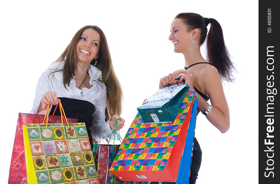
<path fill-rule="evenodd" d="M 172 21 L 170 27 L 170 36 L 168 38 L 174 45 L 174 52 L 183 53 L 191 47 L 192 32 L 180 18 Z"/>

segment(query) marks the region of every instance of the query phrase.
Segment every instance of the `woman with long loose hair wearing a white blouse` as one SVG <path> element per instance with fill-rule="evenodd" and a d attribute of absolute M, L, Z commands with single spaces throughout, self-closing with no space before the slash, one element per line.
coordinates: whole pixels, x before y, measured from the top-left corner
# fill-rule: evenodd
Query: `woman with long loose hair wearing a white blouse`
<path fill-rule="evenodd" d="M 117 118 L 117 131 L 123 127 L 122 99 L 106 37 L 98 26 L 87 25 L 39 78 L 31 113 L 50 104 L 52 114 L 61 102 L 66 117 L 86 123 L 92 146 L 110 137 Z"/>

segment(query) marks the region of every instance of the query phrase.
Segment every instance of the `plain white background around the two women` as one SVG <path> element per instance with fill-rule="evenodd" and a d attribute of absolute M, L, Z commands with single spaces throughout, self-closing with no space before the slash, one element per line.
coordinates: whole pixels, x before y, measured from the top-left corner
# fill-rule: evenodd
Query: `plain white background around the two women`
<path fill-rule="evenodd" d="M 184 67 L 168 40 L 170 23 L 181 12 L 219 21 L 238 71 L 235 83 L 224 85 L 230 129 L 222 134 L 204 115 L 197 117 L 203 158 L 196 183 L 257 183 L 258 4 L 240 0 L 1 1 L 1 183 L 8 181 L 18 113 L 29 113 L 38 78 L 80 28 L 97 25 L 107 37 L 124 92 L 124 137 L 159 79 Z"/>

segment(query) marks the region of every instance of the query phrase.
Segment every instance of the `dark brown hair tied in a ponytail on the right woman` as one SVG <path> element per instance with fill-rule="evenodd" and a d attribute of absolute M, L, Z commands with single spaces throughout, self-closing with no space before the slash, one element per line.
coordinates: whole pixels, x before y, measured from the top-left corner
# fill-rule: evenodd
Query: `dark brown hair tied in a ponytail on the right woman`
<path fill-rule="evenodd" d="M 206 42 L 207 60 L 217 68 L 222 80 L 233 82 L 232 72 L 235 71 L 235 67 L 225 46 L 223 30 L 219 22 L 213 18 L 204 18 L 197 13 L 180 13 L 175 18 L 182 19 L 189 30 L 200 29 L 199 45 L 204 43 L 207 25 L 210 23 Z"/>

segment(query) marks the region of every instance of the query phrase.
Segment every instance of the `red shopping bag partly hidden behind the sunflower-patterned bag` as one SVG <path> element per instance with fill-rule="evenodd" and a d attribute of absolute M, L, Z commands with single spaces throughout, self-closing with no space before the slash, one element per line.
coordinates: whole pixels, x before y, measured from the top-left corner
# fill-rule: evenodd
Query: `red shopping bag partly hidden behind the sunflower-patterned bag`
<path fill-rule="evenodd" d="M 61 123 L 62 119 L 61 116 L 48 116 L 48 118 L 46 119 L 45 117 L 46 115 L 42 114 L 18 113 L 17 129 L 14 139 L 14 147 L 12 152 L 8 183 L 27 183 L 22 125 L 45 123 L 46 121 L 48 121 L 49 123 L 59 124 Z M 71 123 L 78 122 L 77 119 L 73 118 L 67 118 L 67 121 Z M 46 134 L 47 133 L 48 132 L 46 132 Z"/>

